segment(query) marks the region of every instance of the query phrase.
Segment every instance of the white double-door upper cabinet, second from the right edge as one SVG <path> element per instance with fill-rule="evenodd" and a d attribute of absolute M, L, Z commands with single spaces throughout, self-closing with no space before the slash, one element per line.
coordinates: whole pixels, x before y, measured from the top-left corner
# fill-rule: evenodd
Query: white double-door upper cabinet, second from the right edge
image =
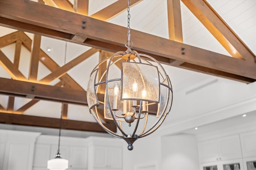
<path fill-rule="evenodd" d="M 198 143 L 201 163 L 242 158 L 239 135 Z"/>

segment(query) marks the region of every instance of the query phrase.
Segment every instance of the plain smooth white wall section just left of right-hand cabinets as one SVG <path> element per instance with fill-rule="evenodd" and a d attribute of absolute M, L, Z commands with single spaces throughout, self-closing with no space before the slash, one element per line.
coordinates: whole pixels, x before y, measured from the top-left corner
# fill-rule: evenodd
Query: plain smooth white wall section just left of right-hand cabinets
<path fill-rule="evenodd" d="M 161 170 L 198 170 L 198 147 L 194 135 L 163 136 Z"/>

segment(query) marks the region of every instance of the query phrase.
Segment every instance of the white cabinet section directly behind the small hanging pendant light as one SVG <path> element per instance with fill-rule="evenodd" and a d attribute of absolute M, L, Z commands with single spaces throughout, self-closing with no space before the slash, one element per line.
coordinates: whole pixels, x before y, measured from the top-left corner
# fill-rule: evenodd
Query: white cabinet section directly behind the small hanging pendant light
<path fill-rule="evenodd" d="M 35 145 L 33 170 L 47 170 L 47 161 L 55 158 L 58 137 L 41 135 Z M 86 170 L 88 149 L 85 139 L 61 137 L 60 154 L 68 160 L 68 170 Z"/>

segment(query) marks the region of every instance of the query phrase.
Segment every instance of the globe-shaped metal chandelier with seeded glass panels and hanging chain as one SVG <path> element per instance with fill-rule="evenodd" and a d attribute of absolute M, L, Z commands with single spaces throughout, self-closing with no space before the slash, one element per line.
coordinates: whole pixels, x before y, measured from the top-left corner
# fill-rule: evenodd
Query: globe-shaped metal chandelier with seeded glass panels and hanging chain
<path fill-rule="evenodd" d="M 156 59 L 131 50 L 130 0 L 127 12 L 127 50 L 106 58 L 92 70 L 87 102 L 90 113 L 103 129 L 124 139 L 128 150 L 132 150 L 134 141 L 150 135 L 163 123 L 172 106 L 172 85 Z M 108 120 L 114 121 L 118 132 L 104 125 Z"/>

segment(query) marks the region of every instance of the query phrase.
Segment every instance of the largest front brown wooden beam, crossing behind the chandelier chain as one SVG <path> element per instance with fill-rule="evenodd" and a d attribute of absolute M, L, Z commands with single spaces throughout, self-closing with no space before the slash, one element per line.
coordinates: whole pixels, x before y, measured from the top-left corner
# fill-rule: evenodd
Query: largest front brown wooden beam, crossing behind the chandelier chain
<path fill-rule="evenodd" d="M 38 14 L 36 17 L 33 15 L 34 12 Z M 32 1 L 0 1 L 0 16 L 18 21 L 17 23 L 12 22 L 10 27 L 21 27 L 21 29 L 27 29 L 27 31 L 30 31 L 30 28 L 24 27 L 25 24 L 20 24 L 26 22 L 34 25 L 33 31 L 38 31 L 40 34 L 49 32 L 48 29 L 52 29 L 53 31 L 88 37 L 84 42 L 85 45 L 92 47 L 99 47 L 102 45 L 102 47 L 99 48 L 108 51 L 114 51 L 114 48 L 112 47 L 123 47 L 123 42 L 127 39 L 126 27 L 95 20 L 90 17 L 67 12 L 58 8 L 52 8 L 50 6 L 43 7 L 42 4 Z M 51 18 L 51 20 L 48 18 Z M 81 27 L 81 22 L 83 20 L 86 20 L 86 29 Z M 58 23 L 68 24 L 60 25 Z M 8 26 L 8 22 L 5 22 L 4 25 Z M 35 29 L 36 27 L 39 29 Z M 43 28 L 46 28 L 46 30 L 44 31 Z M 140 31 L 132 31 L 134 36 L 133 42 L 135 45 L 133 49 L 156 55 L 158 56 L 157 60 L 161 61 L 162 63 L 164 63 L 163 60 L 168 60 L 168 62 L 165 62 L 165 64 L 170 64 L 170 59 L 174 59 L 205 68 L 218 70 L 221 72 L 226 72 L 228 73 L 226 75 L 230 74 L 232 77 L 234 75 L 238 77 L 242 76 L 244 78 L 248 78 L 248 82 L 250 82 L 251 79 L 256 79 L 256 64 L 254 62 L 246 62 L 244 60 L 228 57 L 226 55 L 221 55 L 204 49 L 199 49 L 190 45 L 171 41 L 147 33 L 142 33 Z M 54 37 L 52 34 L 44 35 Z M 58 36 L 59 35 L 61 34 L 58 34 Z M 63 39 L 63 37 L 56 38 Z M 66 39 L 66 41 L 70 41 L 70 39 Z M 96 42 L 97 44 L 90 44 Z M 186 54 L 183 54 L 181 49 L 185 49 L 184 52 Z M 205 70 L 203 72 L 208 73 L 207 71 L 208 70 Z M 227 76 L 226 78 L 229 77 Z M 238 81 L 239 80 L 240 79 L 238 78 Z"/>

